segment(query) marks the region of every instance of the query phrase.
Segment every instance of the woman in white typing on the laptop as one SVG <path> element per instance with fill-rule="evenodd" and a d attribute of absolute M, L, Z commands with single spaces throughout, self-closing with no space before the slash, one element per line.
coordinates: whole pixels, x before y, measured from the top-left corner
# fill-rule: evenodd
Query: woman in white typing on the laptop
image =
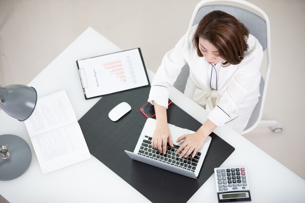
<path fill-rule="evenodd" d="M 188 63 L 185 94 L 209 111 L 207 121 L 193 134 L 183 135 L 180 158 L 195 156 L 216 128 L 230 126 L 242 132 L 258 102 L 263 49 L 248 29 L 233 16 L 213 11 L 191 27 L 163 58 L 155 74 L 148 101 L 154 105 L 156 129 L 152 146 L 166 153 L 172 136 L 167 125 L 169 89 Z"/>

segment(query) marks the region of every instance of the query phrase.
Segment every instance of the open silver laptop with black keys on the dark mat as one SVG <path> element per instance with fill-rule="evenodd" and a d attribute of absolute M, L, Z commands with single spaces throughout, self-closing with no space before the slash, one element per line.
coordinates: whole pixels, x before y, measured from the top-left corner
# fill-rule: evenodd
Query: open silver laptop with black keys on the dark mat
<path fill-rule="evenodd" d="M 194 158 L 190 156 L 186 158 L 179 158 L 180 154 L 175 155 L 175 151 L 182 145 L 175 143 L 175 141 L 184 134 L 194 133 L 189 129 L 182 129 L 172 124 L 168 124 L 172 134 L 172 141 L 174 147 L 167 146 L 166 154 L 160 153 L 158 150 L 152 148 L 151 140 L 156 126 L 156 120 L 148 118 L 144 128 L 140 134 L 139 140 L 134 148 L 134 151 L 125 150 L 127 155 L 139 162 L 163 168 L 193 179 L 197 179 L 201 166 L 204 163 L 205 156 L 210 146 L 211 137 L 208 136 L 203 146 L 198 150 Z"/>

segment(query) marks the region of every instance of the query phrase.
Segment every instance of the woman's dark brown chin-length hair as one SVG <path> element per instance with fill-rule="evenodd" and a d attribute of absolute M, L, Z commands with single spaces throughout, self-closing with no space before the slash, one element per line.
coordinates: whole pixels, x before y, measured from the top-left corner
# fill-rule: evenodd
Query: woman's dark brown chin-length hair
<path fill-rule="evenodd" d="M 235 17 L 223 12 L 212 11 L 203 17 L 193 37 L 197 54 L 203 57 L 199 49 L 199 37 L 214 45 L 219 55 L 225 59 L 225 66 L 239 64 L 248 50 L 248 28 Z"/>

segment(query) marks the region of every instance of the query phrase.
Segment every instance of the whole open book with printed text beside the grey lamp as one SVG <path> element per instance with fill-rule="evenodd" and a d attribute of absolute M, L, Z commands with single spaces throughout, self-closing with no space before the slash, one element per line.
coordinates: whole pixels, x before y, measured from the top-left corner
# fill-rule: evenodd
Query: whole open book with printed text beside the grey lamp
<path fill-rule="evenodd" d="M 91 158 L 64 90 L 38 98 L 33 114 L 24 123 L 43 174 Z"/>

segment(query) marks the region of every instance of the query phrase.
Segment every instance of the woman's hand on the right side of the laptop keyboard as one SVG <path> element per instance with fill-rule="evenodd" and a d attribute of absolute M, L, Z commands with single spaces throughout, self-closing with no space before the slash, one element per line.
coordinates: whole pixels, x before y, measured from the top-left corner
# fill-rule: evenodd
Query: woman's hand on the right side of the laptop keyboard
<path fill-rule="evenodd" d="M 192 153 L 192 157 L 197 154 L 197 151 L 203 145 L 203 142 L 207 139 L 208 136 L 204 136 L 199 132 L 195 132 L 193 134 L 185 134 L 180 136 L 176 142 L 180 142 L 185 140 L 184 143 L 177 149 L 175 152 L 178 154 L 181 150 L 183 150 L 180 154 L 180 158 L 188 157 Z"/>

